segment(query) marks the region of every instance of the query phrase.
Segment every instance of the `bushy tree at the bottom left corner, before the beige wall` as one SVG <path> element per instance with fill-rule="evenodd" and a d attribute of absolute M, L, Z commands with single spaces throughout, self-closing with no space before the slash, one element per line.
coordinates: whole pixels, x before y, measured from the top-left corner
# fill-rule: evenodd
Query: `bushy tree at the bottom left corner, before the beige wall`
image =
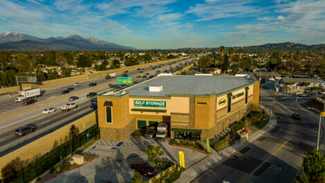
<path fill-rule="evenodd" d="M 13 182 L 17 175 L 21 173 L 23 170 L 24 161 L 20 159 L 20 157 L 16 157 L 3 166 L 1 170 L 1 175 L 3 177 L 4 182 Z"/>

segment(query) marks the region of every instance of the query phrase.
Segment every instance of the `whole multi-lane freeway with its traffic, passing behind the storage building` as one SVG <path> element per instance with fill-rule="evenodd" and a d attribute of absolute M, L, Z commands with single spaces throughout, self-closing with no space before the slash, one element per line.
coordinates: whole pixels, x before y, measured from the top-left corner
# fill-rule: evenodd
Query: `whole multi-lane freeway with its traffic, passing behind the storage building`
<path fill-rule="evenodd" d="M 146 68 L 129 70 L 127 75 L 128 77 L 133 77 L 133 84 L 137 84 L 147 79 L 151 79 L 152 77 L 156 77 L 158 73 L 174 73 L 176 70 L 180 70 L 181 68 L 187 66 L 187 63 L 189 63 L 191 60 L 192 58 L 185 60 L 182 59 L 173 61 L 172 63 L 165 63 L 164 65 L 157 64 L 155 66 L 148 66 Z M 160 70 L 160 72 L 158 70 Z M 14 151 L 15 149 L 24 146 L 25 144 L 28 144 L 52 131 L 55 131 L 57 128 L 69 124 L 70 122 L 73 122 L 74 120 L 79 119 L 80 117 L 83 117 L 96 109 L 97 106 L 91 102 L 91 99 L 94 99 L 95 96 L 90 96 L 89 92 L 82 93 L 82 95 L 73 95 L 73 93 L 80 92 L 80 90 L 89 89 L 90 83 L 97 84 L 97 86 L 91 87 L 93 89 L 92 92 L 97 93 L 97 95 L 104 93 L 108 89 L 117 91 L 132 86 L 133 84 L 127 86 L 110 84 L 113 81 L 116 81 L 118 77 L 121 77 L 122 74 L 125 73 L 116 73 L 116 77 L 112 79 L 105 79 L 105 77 L 101 79 L 98 77 L 97 79 L 89 79 L 89 81 L 86 82 L 80 81 L 80 86 L 73 86 L 73 84 L 71 84 L 69 86 L 53 88 L 50 91 L 46 91 L 41 97 L 37 97 L 35 104 L 31 104 L 39 105 L 41 102 L 52 99 L 51 101 L 53 102 L 51 102 L 48 106 L 42 108 L 32 108 L 30 110 L 26 110 L 26 113 L 20 113 L 13 117 L 0 120 L 0 156 L 6 155 L 7 153 L 10 153 L 11 151 Z M 141 77 L 138 77 L 139 75 Z M 72 94 L 74 100 L 55 100 L 56 97 L 62 96 L 62 90 L 72 87 L 74 90 L 71 90 L 69 94 Z M 89 97 L 87 97 L 87 95 L 89 95 Z M 1 99 L 1 102 L 7 102 L 5 104 L 8 106 L 8 108 L 12 104 L 15 104 L 14 106 L 16 109 L 22 106 L 21 102 L 15 102 L 14 98 Z M 75 106 L 70 107 L 70 105 L 68 106 L 69 103 L 74 103 Z M 6 109 L 1 106 L 2 111 L 15 110 L 15 108 Z M 45 110 L 46 108 L 47 110 Z M 64 108 L 64 112 L 62 112 L 62 108 Z M 6 112 L 4 115 L 5 114 Z M 15 135 L 15 131 L 17 128 L 24 126 L 32 126 L 33 131 L 28 131 L 28 133 L 19 135 L 19 137 L 17 137 L 17 135 Z"/>

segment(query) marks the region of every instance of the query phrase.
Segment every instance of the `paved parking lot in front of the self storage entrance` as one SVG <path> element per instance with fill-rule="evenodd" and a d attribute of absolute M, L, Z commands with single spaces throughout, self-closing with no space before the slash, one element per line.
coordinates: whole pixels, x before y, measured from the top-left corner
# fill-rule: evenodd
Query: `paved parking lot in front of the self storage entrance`
<path fill-rule="evenodd" d="M 192 166 L 199 160 L 207 157 L 187 148 L 170 146 L 169 139 L 145 139 L 141 136 L 130 136 L 124 142 L 98 140 L 86 152 L 100 155 L 100 159 L 76 168 L 73 171 L 59 175 L 48 182 L 131 182 L 133 171 L 130 166 L 133 162 L 148 161 L 145 149 L 149 144 L 159 145 L 165 154 L 163 160 L 171 160 L 179 164 L 178 151 L 185 155 L 185 167 Z M 156 169 L 157 173 L 161 170 Z M 149 180 L 142 175 L 143 180 Z"/>

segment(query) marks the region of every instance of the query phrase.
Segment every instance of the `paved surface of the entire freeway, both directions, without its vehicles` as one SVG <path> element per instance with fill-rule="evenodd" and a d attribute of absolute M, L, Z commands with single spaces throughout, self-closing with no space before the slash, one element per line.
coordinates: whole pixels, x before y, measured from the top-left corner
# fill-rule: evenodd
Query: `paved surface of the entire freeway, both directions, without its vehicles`
<path fill-rule="evenodd" d="M 171 66 L 173 68 L 176 68 L 178 65 L 179 69 L 184 68 L 186 65 L 181 64 L 185 61 L 190 61 L 192 59 L 187 60 L 179 60 L 176 61 L 175 64 L 172 64 Z M 158 65 L 155 65 L 158 66 Z M 154 67 L 154 66 L 152 66 Z M 157 70 L 160 70 L 162 73 L 163 70 L 168 69 L 170 66 L 168 63 L 165 63 L 164 66 L 161 68 L 156 68 L 155 70 L 152 69 L 152 67 L 146 67 L 144 73 L 139 73 L 140 70 L 129 70 L 129 77 L 136 77 L 138 75 L 145 75 L 145 73 L 150 73 L 150 75 L 153 75 L 156 73 Z M 140 68 L 140 66 L 139 66 Z M 169 69 L 168 69 L 169 70 Z M 107 72 L 109 73 L 109 71 Z M 96 82 L 97 86 L 91 87 L 93 92 L 97 93 L 103 93 L 107 90 L 121 90 L 123 88 L 127 88 L 128 86 L 120 87 L 117 84 L 111 84 L 114 81 L 117 81 L 118 77 L 122 76 L 121 73 L 116 73 L 116 77 L 113 79 L 89 79 L 89 81 L 80 82 L 82 83 L 81 86 L 74 87 L 75 90 L 73 90 L 68 95 L 73 95 L 73 93 L 80 92 L 82 90 L 88 90 L 89 86 L 88 84 L 91 82 Z M 133 78 L 133 81 L 144 81 L 147 78 Z M 71 85 L 70 85 L 71 86 Z M 70 111 L 62 111 L 59 109 L 60 106 L 64 106 L 68 101 L 66 100 L 58 100 L 57 97 L 61 97 L 62 90 L 65 88 L 68 88 L 69 86 L 64 87 L 58 87 L 53 88 L 53 90 L 46 91 L 43 96 L 37 98 L 38 101 L 35 104 L 32 104 L 30 106 L 36 106 L 34 108 L 26 108 L 26 111 L 24 113 L 17 113 L 14 116 L 6 117 L 6 119 L 0 120 L 0 156 L 6 155 L 12 151 L 15 151 L 15 149 L 24 146 L 35 139 L 42 137 L 50 131 L 53 131 L 57 128 L 60 128 L 61 126 L 64 126 L 66 124 L 69 124 L 73 122 L 75 119 L 79 119 L 80 117 L 91 113 L 93 110 L 91 110 L 91 101 L 89 98 L 86 97 L 87 93 L 82 93 L 81 95 L 76 95 L 77 97 L 80 97 L 80 99 L 74 101 L 77 103 L 78 108 L 70 110 Z M 5 102 L 5 105 L 7 108 L 3 107 L 1 105 L 2 110 L 8 111 L 15 111 L 19 108 L 21 108 L 21 103 L 15 103 L 14 98 L 10 99 L 1 99 L 0 102 Z M 55 107 L 57 108 L 57 111 L 55 113 L 51 114 L 42 114 L 41 111 L 46 108 L 45 106 L 42 106 L 42 103 L 46 100 L 50 100 L 50 105 L 47 105 L 46 107 Z M 12 106 L 11 106 L 12 105 Z M 27 110 L 28 109 L 28 110 Z M 10 112 L 12 113 L 12 112 Z M 1 115 L 6 115 L 6 112 L 1 113 Z M 14 134 L 15 129 L 21 127 L 21 126 L 35 126 L 36 130 L 32 133 L 28 133 L 28 135 L 24 135 L 24 137 L 17 137 Z"/>

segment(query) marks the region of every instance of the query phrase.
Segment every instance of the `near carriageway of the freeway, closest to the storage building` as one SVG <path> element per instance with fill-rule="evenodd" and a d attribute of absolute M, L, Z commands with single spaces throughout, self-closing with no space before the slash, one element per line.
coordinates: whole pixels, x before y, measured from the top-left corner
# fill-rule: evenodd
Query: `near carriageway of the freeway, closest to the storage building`
<path fill-rule="evenodd" d="M 176 63 L 178 64 L 178 63 Z M 176 66 L 174 64 L 174 66 Z M 182 66 L 184 67 L 184 66 Z M 169 68 L 169 65 L 165 64 L 162 68 Z M 159 68 L 160 70 L 163 70 L 162 68 Z M 145 73 L 156 73 L 156 70 L 148 70 L 149 72 Z M 129 71 L 129 75 L 136 76 L 138 75 L 138 70 L 135 70 L 135 72 Z M 142 73 L 144 75 L 145 73 Z M 105 79 L 102 79 L 105 80 Z M 115 79 L 109 80 L 110 83 L 113 81 L 116 81 L 117 77 Z M 140 81 L 143 81 L 143 79 L 138 79 Z M 102 92 L 107 91 L 107 89 L 110 90 L 121 90 L 122 88 L 126 87 L 118 87 L 117 85 L 111 85 L 107 84 L 105 81 L 102 83 L 102 87 L 93 87 L 95 92 Z M 86 87 L 88 88 L 88 87 Z M 95 88 L 101 88 L 100 90 L 95 90 Z M 42 137 L 43 135 L 46 135 L 48 131 L 50 131 L 52 128 L 59 128 L 61 126 L 64 126 L 66 124 L 69 124 L 70 122 L 73 122 L 73 120 L 78 119 L 82 116 L 84 116 L 87 113 L 91 112 L 90 107 L 90 101 L 86 98 L 86 93 L 79 95 L 79 100 L 75 101 L 75 103 L 78 104 L 78 108 L 76 110 L 71 110 L 69 112 L 62 112 L 59 109 L 59 106 L 63 106 L 66 104 L 67 101 L 55 101 L 53 100 L 53 103 L 50 106 L 58 108 L 57 112 L 50 115 L 41 114 L 41 110 L 43 110 L 43 107 L 35 108 L 32 110 L 29 110 L 26 113 L 17 114 L 14 117 L 8 117 L 7 119 L 3 119 L 0 121 L 0 155 L 6 155 L 7 153 L 10 153 L 12 151 L 15 151 L 15 149 L 24 146 L 28 144 L 29 142 L 32 142 L 33 140 Z M 34 104 L 34 105 L 38 105 Z M 49 107 L 49 106 L 47 106 Z M 16 137 L 14 135 L 14 131 L 16 128 L 24 125 L 32 124 L 37 126 L 37 130 L 35 132 L 29 133 L 28 135 L 24 137 Z"/>

